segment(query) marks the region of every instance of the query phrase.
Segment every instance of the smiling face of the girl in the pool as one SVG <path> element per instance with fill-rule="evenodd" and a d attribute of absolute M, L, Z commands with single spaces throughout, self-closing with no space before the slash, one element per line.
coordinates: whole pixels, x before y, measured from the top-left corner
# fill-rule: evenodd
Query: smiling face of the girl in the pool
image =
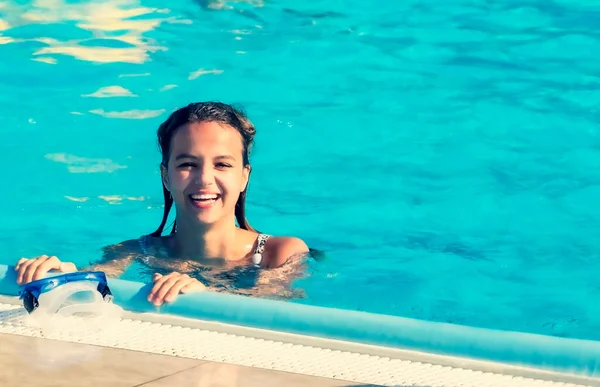
<path fill-rule="evenodd" d="M 246 189 L 240 133 L 218 122 L 188 123 L 175 132 L 167 168 L 161 167 L 178 216 L 202 224 L 235 219 L 235 204 Z"/>

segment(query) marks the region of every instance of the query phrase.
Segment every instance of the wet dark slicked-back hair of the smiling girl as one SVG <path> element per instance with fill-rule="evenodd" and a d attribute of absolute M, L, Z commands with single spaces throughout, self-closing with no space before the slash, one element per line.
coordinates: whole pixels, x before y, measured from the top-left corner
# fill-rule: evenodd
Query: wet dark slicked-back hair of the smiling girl
<path fill-rule="evenodd" d="M 160 153 L 162 154 L 161 164 L 166 168 L 171 153 L 171 140 L 175 135 L 175 132 L 183 125 L 189 123 L 198 122 L 218 122 L 220 124 L 231 126 L 236 129 L 242 136 L 243 144 L 243 162 L 244 166 L 249 166 L 250 162 L 250 150 L 254 145 L 254 135 L 256 129 L 254 125 L 248 120 L 244 112 L 239 108 L 234 108 L 231 105 L 221 102 L 195 102 L 185 107 L 182 107 L 169 116 L 165 122 L 163 122 L 157 131 L 158 145 Z M 243 192 L 240 193 L 237 203 L 235 204 L 235 219 L 238 226 L 245 230 L 254 230 L 248 220 L 246 219 L 246 190 L 248 185 Z M 169 217 L 169 211 L 173 206 L 173 198 L 167 187 L 163 184 L 163 197 L 165 201 L 165 208 L 163 212 L 163 218 L 160 226 L 154 231 L 152 236 L 159 237 L 167 223 Z M 171 234 L 175 233 L 177 223 L 173 223 Z"/>

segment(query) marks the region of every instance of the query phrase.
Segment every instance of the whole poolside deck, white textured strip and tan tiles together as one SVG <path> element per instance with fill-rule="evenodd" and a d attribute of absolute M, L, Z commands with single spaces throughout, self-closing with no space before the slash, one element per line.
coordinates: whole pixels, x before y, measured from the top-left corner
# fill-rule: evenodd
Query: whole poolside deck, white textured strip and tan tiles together
<path fill-rule="evenodd" d="M 0 385 L 600 386 L 533 368 L 126 312 L 106 329 L 41 331 L 0 298 Z"/>

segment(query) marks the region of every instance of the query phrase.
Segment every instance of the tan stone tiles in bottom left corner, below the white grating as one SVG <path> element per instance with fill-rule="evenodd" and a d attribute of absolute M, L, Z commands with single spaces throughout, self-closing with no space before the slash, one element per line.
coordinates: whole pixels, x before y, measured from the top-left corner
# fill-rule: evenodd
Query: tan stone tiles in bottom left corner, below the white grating
<path fill-rule="evenodd" d="M 0 343 L 2 387 L 376 386 L 13 334 Z"/>

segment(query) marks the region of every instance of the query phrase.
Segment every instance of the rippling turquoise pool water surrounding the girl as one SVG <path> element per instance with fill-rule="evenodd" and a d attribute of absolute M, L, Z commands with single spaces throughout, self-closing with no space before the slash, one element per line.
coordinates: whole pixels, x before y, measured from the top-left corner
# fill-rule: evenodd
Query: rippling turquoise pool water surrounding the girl
<path fill-rule="evenodd" d="M 599 17 L 0 0 L 0 263 L 154 230 L 156 127 L 219 99 L 258 128 L 251 224 L 327 254 L 293 302 L 600 339 Z"/>

